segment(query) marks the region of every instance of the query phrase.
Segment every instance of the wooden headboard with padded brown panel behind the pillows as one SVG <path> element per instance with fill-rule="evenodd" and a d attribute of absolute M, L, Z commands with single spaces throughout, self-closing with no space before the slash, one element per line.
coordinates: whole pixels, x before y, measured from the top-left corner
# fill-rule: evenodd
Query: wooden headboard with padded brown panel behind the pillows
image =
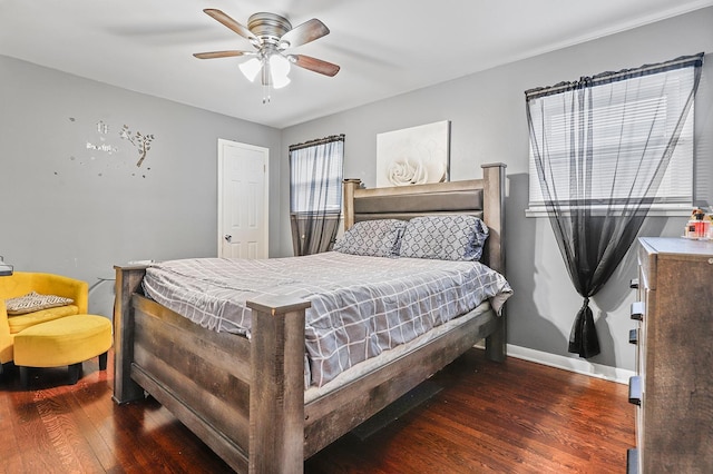
<path fill-rule="evenodd" d="M 372 219 L 410 219 L 437 214 L 468 214 L 480 217 L 490 235 L 485 263 L 505 275 L 505 168 L 482 165 L 482 179 L 393 188 L 364 189 L 359 179 L 344 180 L 344 228 Z"/>

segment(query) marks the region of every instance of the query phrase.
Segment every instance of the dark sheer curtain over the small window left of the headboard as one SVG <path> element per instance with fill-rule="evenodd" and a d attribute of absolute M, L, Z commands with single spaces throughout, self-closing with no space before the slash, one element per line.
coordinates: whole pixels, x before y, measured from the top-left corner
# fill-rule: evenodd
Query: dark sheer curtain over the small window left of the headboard
<path fill-rule="evenodd" d="M 342 213 L 344 135 L 290 146 L 290 221 L 295 256 L 332 247 Z"/>

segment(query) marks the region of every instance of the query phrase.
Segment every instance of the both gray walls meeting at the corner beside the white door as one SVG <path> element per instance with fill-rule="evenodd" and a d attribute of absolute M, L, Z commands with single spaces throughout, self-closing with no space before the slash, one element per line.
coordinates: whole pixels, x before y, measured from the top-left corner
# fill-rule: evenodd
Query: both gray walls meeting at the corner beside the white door
<path fill-rule="evenodd" d="M 524 91 L 605 70 L 713 50 L 713 8 L 509 63 L 284 130 L 0 57 L 0 255 L 17 269 L 85 279 L 113 278 L 135 259 L 216 255 L 217 139 L 271 150 L 271 256 L 292 255 L 286 146 L 345 134 L 345 176 L 375 182 L 377 134 L 451 121 L 451 179 L 508 168 L 509 343 L 567 354 L 582 300 L 569 283 L 549 223 L 526 218 L 528 145 Z M 713 63 L 696 102 L 695 196 L 713 204 Z M 98 125 L 108 126 L 102 132 Z M 119 136 L 153 134 L 143 167 Z M 97 148 L 111 150 L 92 150 Z M 642 234 L 680 235 L 685 217 L 652 218 Z M 592 362 L 634 368 L 631 256 L 595 298 L 603 354 Z M 110 315 L 113 286 L 99 284 L 90 308 Z"/>

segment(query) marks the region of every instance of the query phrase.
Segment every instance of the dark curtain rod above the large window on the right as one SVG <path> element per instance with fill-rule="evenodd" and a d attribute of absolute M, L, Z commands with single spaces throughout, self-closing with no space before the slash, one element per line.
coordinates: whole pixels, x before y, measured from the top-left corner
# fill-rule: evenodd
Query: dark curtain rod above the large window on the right
<path fill-rule="evenodd" d="M 536 99 L 538 97 L 553 96 L 555 93 L 564 92 L 566 90 L 574 90 L 582 87 L 594 87 L 603 83 L 615 82 L 624 79 L 631 79 L 641 76 L 655 75 L 658 72 L 665 72 L 674 69 L 683 69 L 687 67 L 701 67 L 703 66 L 704 52 L 699 52 L 692 56 L 681 56 L 670 61 L 658 62 L 654 65 L 644 65 L 633 69 L 622 69 L 621 71 L 607 71 L 596 76 L 582 77 L 577 81 L 559 82 L 549 87 L 537 87 L 525 91 L 525 97 L 529 99 Z"/>

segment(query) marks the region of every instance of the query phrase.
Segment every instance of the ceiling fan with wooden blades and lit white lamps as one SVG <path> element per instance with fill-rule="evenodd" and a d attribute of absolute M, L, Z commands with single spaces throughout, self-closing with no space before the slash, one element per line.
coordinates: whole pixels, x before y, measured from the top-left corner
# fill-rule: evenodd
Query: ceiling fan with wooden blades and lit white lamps
<path fill-rule="evenodd" d="M 306 45 L 329 34 L 329 28 L 316 18 L 292 28 L 290 21 L 280 14 L 260 12 L 251 16 L 247 19 L 247 27 L 245 27 L 221 10 L 209 8 L 203 11 L 247 39 L 254 50 L 196 52 L 193 56 L 198 59 L 252 56 L 248 61 L 241 63 L 240 67 L 245 77 L 251 81 L 255 80 L 258 72 L 262 72 L 261 80 L 265 87 L 263 102 L 270 101 L 271 87 L 279 89 L 290 83 L 290 78 L 287 78 L 290 65 L 295 65 L 329 77 L 335 76 L 340 70 L 339 66 L 322 59 L 305 55 L 287 53 L 287 49 L 290 48 Z"/>

